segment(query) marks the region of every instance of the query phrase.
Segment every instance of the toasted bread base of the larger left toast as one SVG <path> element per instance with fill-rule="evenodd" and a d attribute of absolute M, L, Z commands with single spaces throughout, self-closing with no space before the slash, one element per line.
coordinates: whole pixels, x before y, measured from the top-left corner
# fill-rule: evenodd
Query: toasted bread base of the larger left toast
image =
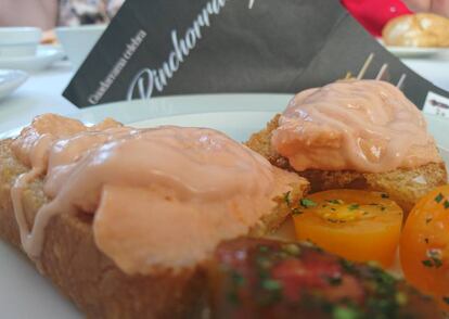
<path fill-rule="evenodd" d="M 21 248 L 18 228 L 11 201 L 11 187 L 28 170 L 13 155 L 11 140 L 0 141 L 0 237 Z M 23 205 L 31 226 L 39 207 L 48 201 L 42 179 L 24 192 Z M 292 186 L 292 201 L 308 189 L 306 181 Z M 261 234 L 275 228 L 290 214 L 284 194 L 260 226 Z M 206 275 L 202 265 L 150 276 L 128 276 L 95 245 L 92 217 L 79 213 L 56 215 L 46 228 L 46 242 L 36 266 L 87 315 L 88 318 L 200 318 L 204 308 Z"/>

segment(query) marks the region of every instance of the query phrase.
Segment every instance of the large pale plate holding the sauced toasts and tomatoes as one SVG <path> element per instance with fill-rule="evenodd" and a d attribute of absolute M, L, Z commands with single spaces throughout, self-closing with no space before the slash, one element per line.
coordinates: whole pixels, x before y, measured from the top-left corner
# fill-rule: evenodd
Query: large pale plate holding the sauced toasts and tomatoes
<path fill-rule="evenodd" d="M 211 127 L 244 141 L 281 112 L 290 94 L 213 94 L 155 98 L 151 101 L 106 104 L 72 115 L 86 123 L 113 117 L 136 127 L 181 125 Z M 449 149 L 449 128 L 445 119 L 427 117 L 438 143 Z M 18 129 L 0 135 L 17 133 Z M 449 155 L 449 154 L 447 154 Z M 449 157 L 447 157 L 449 161 Z M 449 163 L 449 162 L 448 162 Z M 0 309 L 2 318 L 84 318 L 50 281 L 42 278 L 26 258 L 0 243 Z M 24 303 L 25 302 L 25 303 Z"/>

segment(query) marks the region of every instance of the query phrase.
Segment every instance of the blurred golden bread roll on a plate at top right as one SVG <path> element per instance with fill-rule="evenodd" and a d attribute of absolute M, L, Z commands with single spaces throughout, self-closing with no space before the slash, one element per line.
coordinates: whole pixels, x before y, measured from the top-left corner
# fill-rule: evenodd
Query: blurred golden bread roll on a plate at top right
<path fill-rule="evenodd" d="M 449 18 L 432 13 L 401 15 L 382 31 L 385 44 L 396 47 L 449 47 Z"/>

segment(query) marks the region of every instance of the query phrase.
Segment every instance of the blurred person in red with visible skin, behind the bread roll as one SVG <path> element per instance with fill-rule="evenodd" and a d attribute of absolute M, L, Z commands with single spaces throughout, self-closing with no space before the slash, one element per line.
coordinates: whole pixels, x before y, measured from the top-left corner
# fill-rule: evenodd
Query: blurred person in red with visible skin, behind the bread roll
<path fill-rule="evenodd" d="M 381 36 L 389 20 L 412 11 L 449 17 L 449 0 L 342 0 L 342 3 L 375 37 Z"/>

